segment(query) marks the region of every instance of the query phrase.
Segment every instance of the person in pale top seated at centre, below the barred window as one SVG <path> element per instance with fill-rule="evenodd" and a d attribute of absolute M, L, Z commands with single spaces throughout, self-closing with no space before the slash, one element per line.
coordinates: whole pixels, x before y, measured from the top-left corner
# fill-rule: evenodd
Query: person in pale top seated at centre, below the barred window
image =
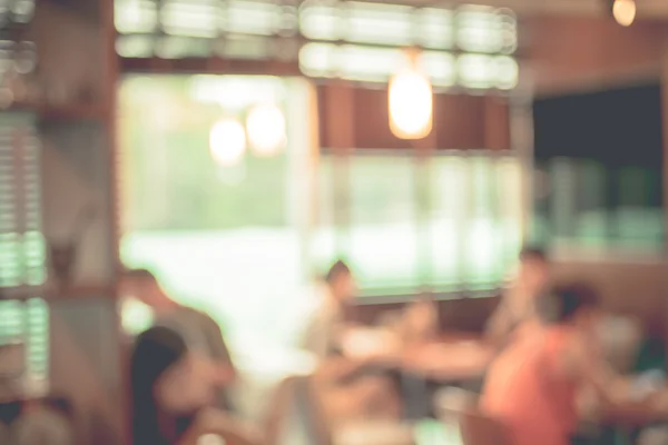
<path fill-rule="evenodd" d="M 336 261 L 321 285 L 321 307 L 304 333 L 304 348 L 320 365 L 314 375 L 326 415 L 333 422 L 356 417 L 399 417 L 399 397 L 392 379 L 382 373 L 361 372 L 369 360 L 346 357 L 343 339 L 352 324 L 345 322 L 345 306 L 355 295 L 348 266 Z"/>

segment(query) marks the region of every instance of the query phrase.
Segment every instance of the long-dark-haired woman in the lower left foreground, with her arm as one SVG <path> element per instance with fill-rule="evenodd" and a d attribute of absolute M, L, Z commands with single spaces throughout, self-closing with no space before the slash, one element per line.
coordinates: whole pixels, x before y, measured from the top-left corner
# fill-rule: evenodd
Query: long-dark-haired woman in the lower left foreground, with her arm
<path fill-rule="evenodd" d="M 209 407 L 215 375 L 166 327 L 137 337 L 130 363 L 132 438 L 137 445 L 195 445 L 204 435 L 228 445 L 258 444 L 257 435 Z"/>

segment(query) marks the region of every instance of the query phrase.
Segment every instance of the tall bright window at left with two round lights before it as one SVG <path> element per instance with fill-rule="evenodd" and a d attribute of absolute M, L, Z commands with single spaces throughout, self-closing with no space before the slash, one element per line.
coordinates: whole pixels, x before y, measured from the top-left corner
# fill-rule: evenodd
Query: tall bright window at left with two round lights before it
<path fill-rule="evenodd" d="M 120 88 L 122 259 L 214 316 L 236 352 L 277 349 L 299 328 L 306 92 L 298 79 L 234 76 L 134 76 Z M 285 116 L 287 145 L 267 156 L 248 140 L 229 158 L 238 134 L 216 128 L 267 101 Z M 129 307 L 126 324 L 145 327 Z"/>

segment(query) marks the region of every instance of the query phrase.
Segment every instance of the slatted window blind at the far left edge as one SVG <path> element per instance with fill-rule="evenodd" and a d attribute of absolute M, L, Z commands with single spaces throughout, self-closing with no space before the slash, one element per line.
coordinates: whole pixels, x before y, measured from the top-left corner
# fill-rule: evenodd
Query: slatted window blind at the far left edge
<path fill-rule="evenodd" d="M 39 151 L 32 116 L 0 115 L 0 344 L 23 343 L 27 370 L 43 378 L 48 307 L 39 298 L 46 275 Z M 21 298 L 2 299 L 9 289 L 20 289 Z"/>

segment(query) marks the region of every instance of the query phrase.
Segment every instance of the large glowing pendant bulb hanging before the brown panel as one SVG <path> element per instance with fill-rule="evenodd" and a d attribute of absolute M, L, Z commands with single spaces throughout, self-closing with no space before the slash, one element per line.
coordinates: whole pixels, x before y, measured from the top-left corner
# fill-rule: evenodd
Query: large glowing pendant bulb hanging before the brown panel
<path fill-rule="evenodd" d="M 416 70 L 396 75 L 390 81 L 390 129 L 400 139 L 422 139 L 432 129 L 431 82 Z"/>

